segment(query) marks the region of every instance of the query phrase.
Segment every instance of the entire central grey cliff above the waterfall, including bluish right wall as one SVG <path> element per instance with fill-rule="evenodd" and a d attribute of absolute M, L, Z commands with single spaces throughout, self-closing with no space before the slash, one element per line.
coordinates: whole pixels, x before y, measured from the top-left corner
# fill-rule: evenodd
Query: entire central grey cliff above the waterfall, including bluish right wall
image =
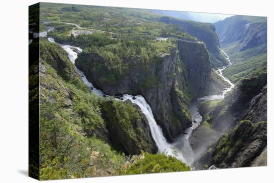
<path fill-rule="evenodd" d="M 146 66 L 138 64 L 137 56 L 124 58 L 129 70 L 116 82 L 107 79 L 116 74 L 106 66 L 108 62 L 96 53 L 81 53 L 75 64 L 94 86 L 106 94 L 141 94 L 169 142 L 191 126 L 188 109 L 190 88 L 193 86 L 198 95 L 210 80 L 211 70 L 204 44 L 178 41 L 178 48 L 170 50 L 170 54 L 159 55 Z"/>

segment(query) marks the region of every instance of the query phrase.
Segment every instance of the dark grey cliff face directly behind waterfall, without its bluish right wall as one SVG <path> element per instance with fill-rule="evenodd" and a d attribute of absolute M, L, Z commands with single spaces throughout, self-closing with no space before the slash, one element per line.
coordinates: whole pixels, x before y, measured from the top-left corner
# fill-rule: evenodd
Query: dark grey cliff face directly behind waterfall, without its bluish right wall
<path fill-rule="evenodd" d="M 128 65 L 130 71 L 116 83 L 108 82 L 109 75 L 116 73 L 108 70 L 106 62 L 108 60 L 98 54 L 86 53 L 80 54 L 75 64 L 84 71 L 88 80 L 106 94 L 130 93 L 144 96 L 152 109 L 155 120 L 162 127 L 169 141 L 173 141 L 177 135 L 191 125 L 187 103 L 183 101 L 185 99 L 179 98 L 178 91 L 175 89 L 176 85 L 180 91 L 179 83 L 176 84 L 174 79 L 179 62 L 176 50 L 168 55 L 161 55 L 146 66 L 139 64 L 138 57 L 124 59 L 123 62 Z M 98 72 L 98 67 L 104 72 Z M 177 103 L 181 102 L 183 106 L 175 105 L 171 98 L 182 100 Z"/>

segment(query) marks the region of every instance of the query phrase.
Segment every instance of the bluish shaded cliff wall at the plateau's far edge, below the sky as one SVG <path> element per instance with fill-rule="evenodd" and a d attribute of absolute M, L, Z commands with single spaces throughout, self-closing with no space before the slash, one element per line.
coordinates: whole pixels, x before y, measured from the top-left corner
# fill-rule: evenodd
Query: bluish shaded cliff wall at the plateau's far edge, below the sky
<path fill-rule="evenodd" d="M 212 67 L 221 67 L 228 64 L 227 60 L 221 53 L 219 39 L 215 33 L 214 24 L 175 19 L 168 16 L 161 17 L 160 21 L 167 24 L 181 25 L 185 32 L 197 37 L 200 41 L 203 41 L 209 51 L 209 59 Z"/>

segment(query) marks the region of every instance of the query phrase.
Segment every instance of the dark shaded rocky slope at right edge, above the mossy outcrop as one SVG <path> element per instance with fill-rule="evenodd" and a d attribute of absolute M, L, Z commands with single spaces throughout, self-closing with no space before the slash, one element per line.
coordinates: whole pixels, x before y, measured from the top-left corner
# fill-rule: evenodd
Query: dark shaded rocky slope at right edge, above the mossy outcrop
<path fill-rule="evenodd" d="M 210 114 L 213 128 L 231 129 L 240 120 L 267 121 L 267 73 L 243 79 Z"/>

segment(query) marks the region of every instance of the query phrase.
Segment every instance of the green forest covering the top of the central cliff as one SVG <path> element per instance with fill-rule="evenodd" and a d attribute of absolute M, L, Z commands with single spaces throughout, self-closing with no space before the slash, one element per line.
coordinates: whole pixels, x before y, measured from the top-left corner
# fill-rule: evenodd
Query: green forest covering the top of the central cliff
<path fill-rule="evenodd" d="M 86 37 L 93 36 L 97 37 L 93 34 Z M 104 46 L 99 46 L 96 40 L 92 41 L 93 45 L 85 48 L 79 55 L 77 66 L 84 71 L 88 69 L 88 72 L 98 73 L 101 83 L 112 85 L 119 84 L 125 76 L 138 68 L 148 74 L 138 84 L 138 88 L 147 89 L 161 85 L 158 77 L 150 73 L 150 69 L 153 64 L 161 63 L 164 55 L 170 54 L 175 48 L 175 40 L 115 40 L 116 43 L 112 40 L 109 38 L 110 44 L 106 41 Z M 87 64 L 87 59 L 93 62 Z"/>

